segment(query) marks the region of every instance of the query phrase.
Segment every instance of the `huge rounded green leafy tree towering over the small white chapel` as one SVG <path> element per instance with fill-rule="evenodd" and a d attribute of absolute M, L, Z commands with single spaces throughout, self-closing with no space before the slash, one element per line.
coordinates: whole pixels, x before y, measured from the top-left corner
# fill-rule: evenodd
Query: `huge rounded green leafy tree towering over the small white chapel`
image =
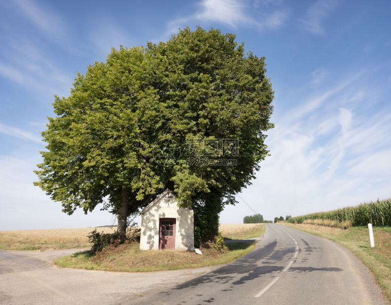
<path fill-rule="evenodd" d="M 128 217 L 169 187 L 195 211 L 196 242 L 211 240 L 268 154 L 265 72 L 264 58 L 213 29 L 112 49 L 55 97 L 35 184 L 68 214 L 104 203 L 122 239 Z"/>

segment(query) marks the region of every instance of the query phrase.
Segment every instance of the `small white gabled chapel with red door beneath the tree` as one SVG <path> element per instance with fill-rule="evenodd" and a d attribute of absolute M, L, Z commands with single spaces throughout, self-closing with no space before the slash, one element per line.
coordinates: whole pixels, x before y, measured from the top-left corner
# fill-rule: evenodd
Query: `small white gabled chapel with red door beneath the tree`
<path fill-rule="evenodd" d="M 166 189 L 141 211 L 141 250 L 194 251 L 194 213 Z"/>

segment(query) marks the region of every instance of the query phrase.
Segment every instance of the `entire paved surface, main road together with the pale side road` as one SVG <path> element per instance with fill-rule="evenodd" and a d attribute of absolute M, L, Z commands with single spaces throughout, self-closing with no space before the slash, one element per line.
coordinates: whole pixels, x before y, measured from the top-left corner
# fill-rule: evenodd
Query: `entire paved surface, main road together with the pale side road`
<path fill-rule="evenodd" d="M 0 250 L 0 304 L 387 304 L 344 247 L 268 224 L 256 248 L 224 266 L 155 273 L 60 269 L 75 250 Z"/>

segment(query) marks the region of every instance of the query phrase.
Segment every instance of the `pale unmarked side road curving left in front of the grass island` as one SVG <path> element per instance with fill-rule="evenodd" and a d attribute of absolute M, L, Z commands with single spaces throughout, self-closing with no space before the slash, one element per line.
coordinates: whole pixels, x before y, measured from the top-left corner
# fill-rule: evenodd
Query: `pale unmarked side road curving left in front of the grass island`
<path fill-rule="evenodd" d="M 52 264 L 55 258 L 78 251 L 0 250 L 0 304 L 124 304 L 220 267 L 115 273 Z"/>

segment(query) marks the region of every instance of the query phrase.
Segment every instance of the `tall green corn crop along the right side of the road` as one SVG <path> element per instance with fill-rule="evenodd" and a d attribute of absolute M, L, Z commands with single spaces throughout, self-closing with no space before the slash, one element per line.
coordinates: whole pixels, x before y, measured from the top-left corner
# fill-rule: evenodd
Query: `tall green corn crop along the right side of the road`
<path fill-rule="evenodd" d="M 353 226 L 366 226 L 368 223 L 374 226 L 391 226 L 391 198 L 329 212 L 296 216 L 289 218 L 288 222 L 302 223 L 306 219 L 351 221 Z"/>

